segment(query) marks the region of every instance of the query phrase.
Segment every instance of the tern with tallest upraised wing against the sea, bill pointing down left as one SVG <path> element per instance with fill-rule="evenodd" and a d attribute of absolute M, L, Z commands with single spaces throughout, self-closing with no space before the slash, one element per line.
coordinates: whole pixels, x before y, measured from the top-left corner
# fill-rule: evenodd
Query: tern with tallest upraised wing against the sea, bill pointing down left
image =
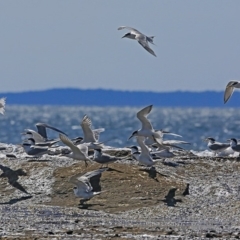
<path fill-rule="evenodd" d="M 134 136 L 153 137 L 155 142 L 162 144 L 162 138 L 158 131 L 155 131 L 152 124 L 147 119 L 148 114 L 151 112 L 153 105 L 149 105 L 137 113 L 137 118 L 142 123 L 142 128 L 134 131 L 128 140 Z"/>

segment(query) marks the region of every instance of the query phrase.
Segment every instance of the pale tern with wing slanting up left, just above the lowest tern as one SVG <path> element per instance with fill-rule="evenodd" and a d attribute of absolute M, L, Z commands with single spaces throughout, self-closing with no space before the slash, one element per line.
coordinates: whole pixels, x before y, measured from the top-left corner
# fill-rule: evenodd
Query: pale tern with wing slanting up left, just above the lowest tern
<path fill-rule="evenodd" d="M 85 166 L 87 167 L 87 161 L 92 161 L 88 157 L 88 146 L 86 144 L 79 144 L 78 146 L 75 146 L 73 142 L 65 135 L 59 134 L 59 138 L 61 141 L 67 145 L 71 149 L 71 153 L 64 154 L 64 156 L 67 156 L 69 158 L 73 158 L 76 160 L 82 160 L 85 162 Z"/>

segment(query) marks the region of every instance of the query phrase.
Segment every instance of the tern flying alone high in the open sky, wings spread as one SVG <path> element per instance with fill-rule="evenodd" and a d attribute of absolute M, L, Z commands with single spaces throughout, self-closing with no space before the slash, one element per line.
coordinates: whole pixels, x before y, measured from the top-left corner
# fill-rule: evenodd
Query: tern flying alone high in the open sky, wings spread
<path fill-rule="evenodd" d="M 138 43 L 145 48 L 149 53 L 151 53 L 153 56 L 156 57 L 156 54 L 154 53 L 154 51 L 149 47 L 148 42 L 150 42 L 151 44 L 153 43 L 153 38 L 154 36 L 148 37 L 146 35 L 144 35 L 143 33 L 139 32 L 138 30 L 131 28 L 131 27 L 126 27 L 126 26 L 121 26 L 118 28 L 118 30 L 122 30 L 122 29 L 129 29 L 130 32 L 126 33 L 122 38 L 130 38 L 130 39 L 134 39 L 137 40 Z"/>

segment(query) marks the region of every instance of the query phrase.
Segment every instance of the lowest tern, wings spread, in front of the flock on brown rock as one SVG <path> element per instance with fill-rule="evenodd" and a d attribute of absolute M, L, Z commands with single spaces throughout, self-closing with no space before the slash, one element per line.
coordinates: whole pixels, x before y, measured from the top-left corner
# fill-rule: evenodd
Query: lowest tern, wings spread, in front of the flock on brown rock
<path fill-rule="evenodd" d="M 102 173 L 107 169 L 108 168 L 100 168 L 91 172 L 87 172 L 84 175 L 80 174 L 80 177 L 77 175 L 70 178 L 70 182 L 76 185 L 76 187 L 73 188 L 75 196 L 82 198 L 80 200 L 81 204 L 84 204 L 85 201 L 88 201 L 92 197 L 101 193 L 101 186 L 99 182 Z M 91 182 L 93 178 L 95 180 L 95 184 Z"/>

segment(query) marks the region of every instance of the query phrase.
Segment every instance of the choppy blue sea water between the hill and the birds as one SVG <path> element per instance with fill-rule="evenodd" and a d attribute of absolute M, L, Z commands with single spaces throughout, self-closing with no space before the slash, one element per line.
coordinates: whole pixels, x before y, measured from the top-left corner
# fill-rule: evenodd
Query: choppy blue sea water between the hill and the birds
<path fill-rule="evenodd" d="M 144 107 L 144 106 L 143 106 Z M 85 114 L 92 120 L 93 128 L 105 128 L 100 141 L 113 147 L 136 144 L 127 140 L 140 128 L 136 113 L 141 107 L 83 107 L 83 106 L 17 106 L 7 105 L 5 115 L 0 115 L 0 142 L 20 144 L 21 133 L 26 128 L 36 130 L 37 122 L 45 122 L 64 131 L 70 138 L 82 136 L 80 122 Z M 191 143 L 188 150 L 207 149 L 206 137 L 221 142 L 229 138 L 240 139 L 240 109 L 220 108 L 159 108 L 153 107 L 149 119 L 155 129 L 164 129 L 182 135 L 182 138 L 164 136 Z M 58 134 L 48 130 L 49 138 Z"/>

